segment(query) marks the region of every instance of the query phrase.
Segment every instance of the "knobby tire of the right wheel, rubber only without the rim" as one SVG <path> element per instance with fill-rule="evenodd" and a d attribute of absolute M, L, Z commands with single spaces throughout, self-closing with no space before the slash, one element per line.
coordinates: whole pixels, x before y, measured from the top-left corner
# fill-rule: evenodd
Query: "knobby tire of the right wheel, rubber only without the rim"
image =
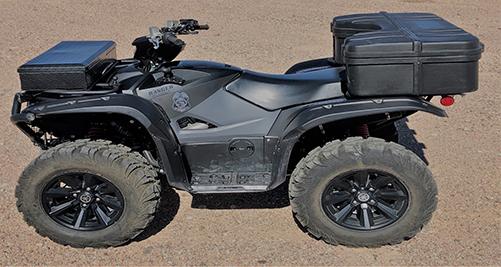
<path fill-rule="evenodd" d="M 322 204 L 324 190 L 336 177 L 364 169 L 397 177 L 408 192 L 407 208 L 396 221 L 365 231 L 330 219 Z M 378 247 L 412 238 L 431 219 L 436 194 L 431 172 L 419 157 L 377 138 L 351 137 L 315 148 L 298 163 L 289 183 L 292 211 L 304 229 L 329 244 L 353 247 Z M 356 196 L 349 201 L 353 199 Z"/>

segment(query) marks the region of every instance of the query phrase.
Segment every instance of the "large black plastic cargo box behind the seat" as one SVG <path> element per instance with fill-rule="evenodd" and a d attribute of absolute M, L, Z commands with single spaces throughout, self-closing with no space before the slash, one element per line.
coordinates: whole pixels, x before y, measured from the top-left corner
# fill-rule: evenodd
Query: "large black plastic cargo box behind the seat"
<path fill-rule="evenodd" d="M 429 13 L 335 17 L 334 60 L 352 96 L 449 95 L 478 88 L 483 45 Z"/>

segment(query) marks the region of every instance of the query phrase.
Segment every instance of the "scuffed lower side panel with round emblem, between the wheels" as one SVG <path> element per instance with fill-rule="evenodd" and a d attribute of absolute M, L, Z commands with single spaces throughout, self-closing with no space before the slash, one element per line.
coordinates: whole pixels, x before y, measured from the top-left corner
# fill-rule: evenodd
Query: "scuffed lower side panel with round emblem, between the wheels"
<path fill-rule="evenodd" d="M 276 142 L 276 138 L 238 136 L 227 142 L 184 145 L 192 187 L 213 187 L 214 191 L 267 188 L 272 183 Z"/>

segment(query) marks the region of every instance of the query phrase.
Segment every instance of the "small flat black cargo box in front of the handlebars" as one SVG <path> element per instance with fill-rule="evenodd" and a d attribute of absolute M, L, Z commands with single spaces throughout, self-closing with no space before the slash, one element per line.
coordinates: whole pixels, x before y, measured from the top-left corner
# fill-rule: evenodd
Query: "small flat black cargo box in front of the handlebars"
<path fill-rule="evenodd" d="M 113 41 L 64 41 L 17 71 L 23 90 L 86 90 L 115 59 Z"/>

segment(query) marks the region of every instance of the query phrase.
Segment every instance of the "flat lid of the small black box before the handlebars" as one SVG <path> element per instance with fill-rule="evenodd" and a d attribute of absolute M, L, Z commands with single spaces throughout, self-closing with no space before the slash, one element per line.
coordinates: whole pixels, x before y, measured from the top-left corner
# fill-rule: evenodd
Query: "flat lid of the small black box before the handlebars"
<path fill-rule="evenodd" d="M 63 41 L 19 67 L 18 72 L 43 72 L 64 68 L 85 71 L 114 51 L 113 41 Z"/>

